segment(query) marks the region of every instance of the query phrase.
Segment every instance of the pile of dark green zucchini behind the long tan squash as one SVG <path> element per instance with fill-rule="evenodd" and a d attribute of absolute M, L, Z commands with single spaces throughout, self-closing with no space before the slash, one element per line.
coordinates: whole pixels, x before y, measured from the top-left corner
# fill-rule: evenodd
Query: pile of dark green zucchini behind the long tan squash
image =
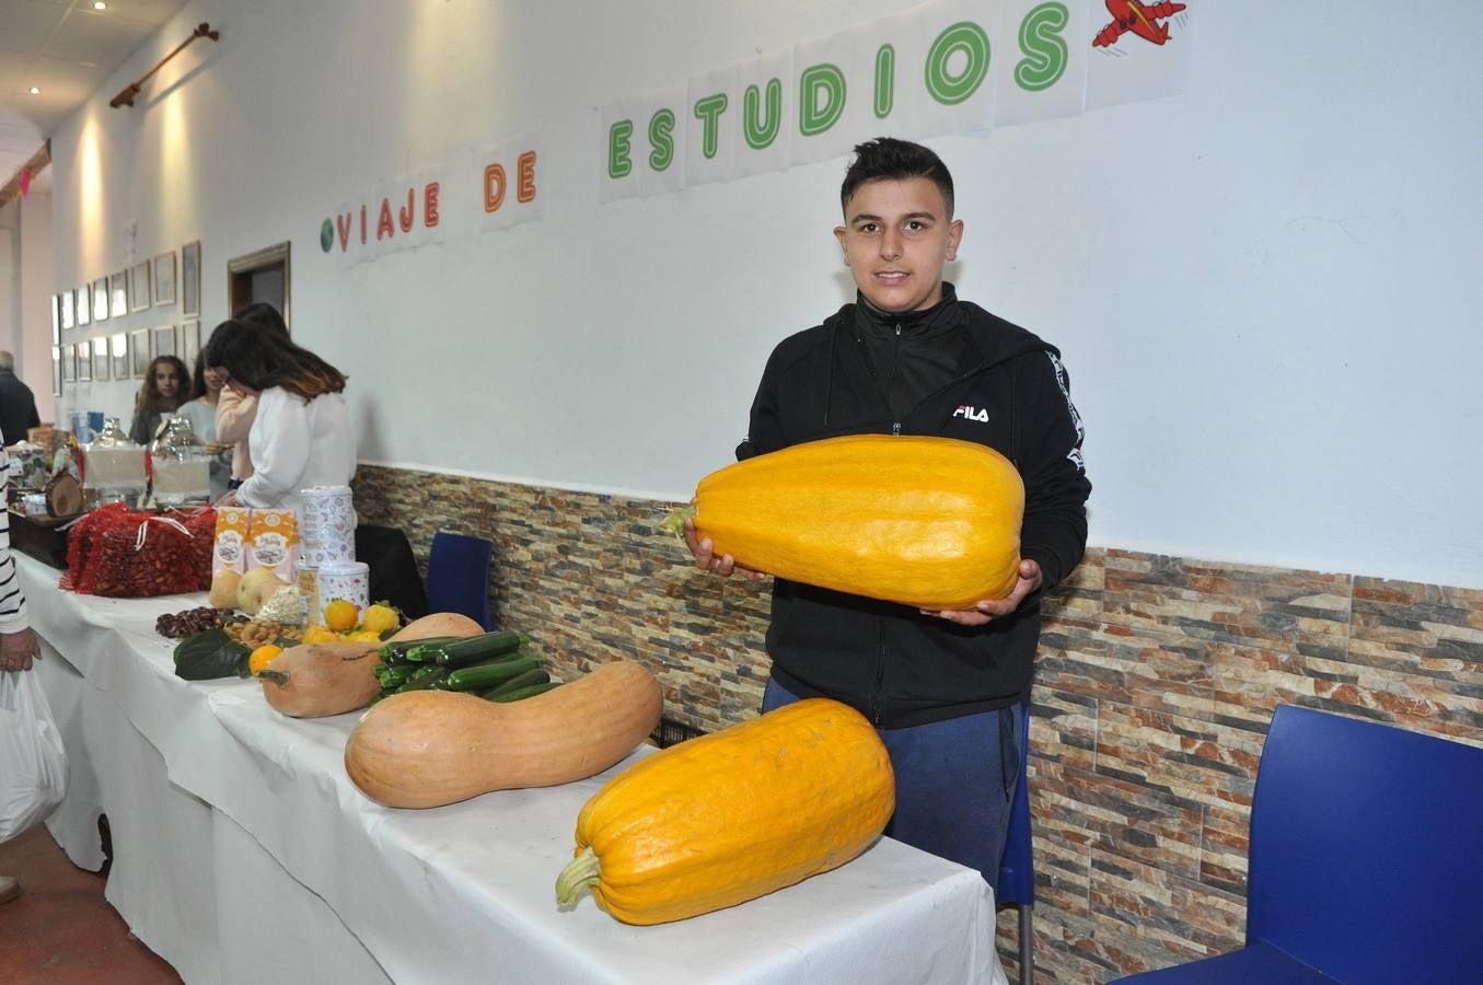
<path fill-rule="evenodd" d="M 403 691 L 467 691 L 491 702 L 518 702 L 558 687 L 529 650 L 531 638 L 510 629 L 482 636 L 436 636 L 381 645 L 375 665 L 381 693 L 371 703 Z"/>

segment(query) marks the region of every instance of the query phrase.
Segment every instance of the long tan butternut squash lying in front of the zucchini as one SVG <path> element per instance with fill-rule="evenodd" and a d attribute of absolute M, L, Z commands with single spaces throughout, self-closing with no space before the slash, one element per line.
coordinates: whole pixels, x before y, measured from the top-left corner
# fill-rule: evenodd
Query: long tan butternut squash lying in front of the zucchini
<path fill-rule="evenodd" d="M 346 740 L 346 773 L 387 807 L 439 807 L 602 773 L 658 725 L 654 675 L 615 660 L 510 705 L 406 691 L 374 705 Z"/>

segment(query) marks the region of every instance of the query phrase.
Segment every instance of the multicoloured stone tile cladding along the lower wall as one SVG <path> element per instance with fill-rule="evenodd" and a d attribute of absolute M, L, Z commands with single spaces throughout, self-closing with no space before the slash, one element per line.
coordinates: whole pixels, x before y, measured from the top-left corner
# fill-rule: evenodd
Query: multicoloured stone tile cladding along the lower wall
<path fill-rule="evenodd" d="M 623 656 L 703 730 L 767 679 L 767 589 L 696 571 L 670 503 L 362 466 L 365 524 L 494 541 L 497 620 L 571 675 Z M 1048 601 L 1031 727 L 1035 966 L 1105 982 L 1241 945 L 1280 702 L 1483 746 L 1483 592 L 1091 550 Z M 1013 976 L 1016 915 L 1000 914 Z"/>

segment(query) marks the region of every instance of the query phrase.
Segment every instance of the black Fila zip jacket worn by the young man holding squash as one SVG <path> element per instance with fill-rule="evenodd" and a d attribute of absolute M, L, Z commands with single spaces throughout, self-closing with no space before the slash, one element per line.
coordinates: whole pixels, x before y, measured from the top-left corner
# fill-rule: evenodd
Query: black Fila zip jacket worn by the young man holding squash
<path fill-rule="evenodd" d="M 1091 484 L 1081 418 L 1060 353 L 1031 332 L 958 301 L 933 316 L 957 374 L 911 409 L 891 411 L 872 372 L 854 304 L 773 350 L 737 458 L 836 435 L 939 435 L 1007 455 L 1025 481 L 1020 553 L 1044 587 L 1013 614 L 967 627 L 915 608 L 776 579 L 767 650 L 773 676 L 799 697 L 842 700 L 882 728 L 1007 708 L 1031 681 L 1040 596 L 1071 574 L 1087 541 Z"/>

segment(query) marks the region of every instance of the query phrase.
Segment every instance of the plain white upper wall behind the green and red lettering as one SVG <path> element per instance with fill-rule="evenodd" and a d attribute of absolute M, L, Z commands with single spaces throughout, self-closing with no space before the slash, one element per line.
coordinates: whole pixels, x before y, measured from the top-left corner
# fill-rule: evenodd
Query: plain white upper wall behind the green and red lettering
<path fill-rule="evenodd" d="M 909 6 L 188 3 L 53 138 L 56 289 L 200 239 L 205 332 L 227 258 L 291 239 L 363 460 L 687 498 L 850 297 L 845 162 L 599 205 L 596 108 Z M 1062 347 L 1094 543 L 1483 586 L 1483 4 L 1191 7 L 1185 95 L 934 141 L 949 276 Z M 221 42 L 110 110 L 197 21 Z M 532 131 L 543 221 L 320 252 L 380 179 Z"/>

